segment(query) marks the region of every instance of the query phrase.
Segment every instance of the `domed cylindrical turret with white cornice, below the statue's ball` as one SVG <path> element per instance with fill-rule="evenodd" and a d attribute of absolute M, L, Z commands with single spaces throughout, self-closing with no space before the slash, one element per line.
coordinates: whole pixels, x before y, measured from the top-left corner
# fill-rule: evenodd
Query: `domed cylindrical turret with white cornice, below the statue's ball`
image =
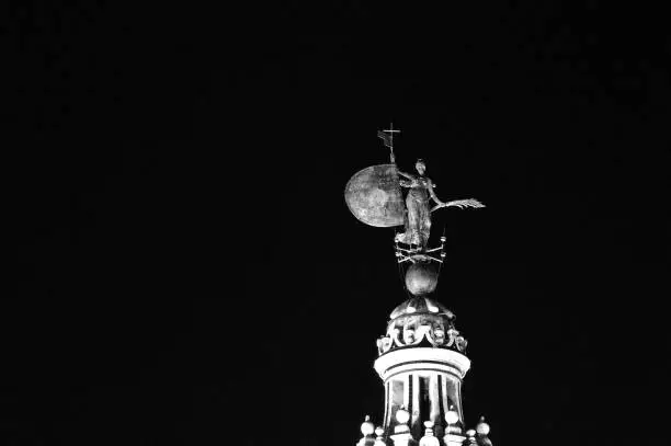
<path fill-rule="evenodd" d="M 385 386 L 385 432 L 394 432 L 396 412 L 405 407 L 414 438 L 422 436 L 424 422 L 432 423 L 439 438 L 462 435 L 462 380 L 470 361 L 454 320 L 452 311 L 428 297 L 412 297 L 391 312 L 374 365 Z"/>

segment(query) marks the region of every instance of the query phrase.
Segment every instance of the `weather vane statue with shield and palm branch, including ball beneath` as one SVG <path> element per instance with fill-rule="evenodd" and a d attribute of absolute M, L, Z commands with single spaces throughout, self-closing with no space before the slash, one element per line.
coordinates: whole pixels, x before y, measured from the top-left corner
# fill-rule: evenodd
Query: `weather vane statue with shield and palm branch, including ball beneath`
<path fill-rule="evenodd" d="M 441 245 L 428 248 L 431 235 L 431 214 L 445 207 L 485 207 L 474 198 L 442 202 L 434 192 L 435 184 L 424 175 L 427 164 L 418 159 L 417 173 L 406 173 L 396 165 L 394 135 L 400 133 L 391 125 L 377 133 L 390 149 L 388 164 L 372 165 L 355 173 L 345 186 L 345 202 L 354 216 L 378 228 L 403 227 L 394 242 L 399 264 L 409 264 L 406 271 L 406 287 L 416 295 L 432 293 L 437 285 L 435 264 L 445 258 L 445 237 Z M 402 176 L 402 179 L 401 179 Z M 401 187 L 408 188 L 403 199 Z M 431 201 L 435 203 L 431 207 Z M 436 256 L 435 254 L 439 253 Z"/>

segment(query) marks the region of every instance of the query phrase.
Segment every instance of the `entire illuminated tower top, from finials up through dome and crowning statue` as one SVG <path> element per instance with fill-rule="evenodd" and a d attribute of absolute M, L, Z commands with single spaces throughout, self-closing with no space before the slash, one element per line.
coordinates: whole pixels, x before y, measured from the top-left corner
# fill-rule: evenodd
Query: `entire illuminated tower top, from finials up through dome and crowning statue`
<path fill-rule="evenodd" d="M 391 131 L 399 130 L 378 133 L 389 148 Z M 454 313 L 431 298 L 445 258 L 445 236 L 439 247 L 429 247 L 434 210 L 485 205 L 474 198 L 442 202 L 435 184 L 424 175 L 425 163 L 418 160 L 414 167 L 417 173 L 400 171 L 391 152 L 389 164 L 363 169 L 345 186 L 345 202 L 359 220 L 378 228 L 403 226 L 394 243 L 399 268 L 406 266 L 406 290 L 412 296 L 391 311 L 386 333 L 377 340 L 374 367 L 385 388 L 383 425 L 374 438 L 373 424 L 366 419 L 360 446 L 390 446 L 390 442 L 394 446 L 491 446 L 484 421 L 468 431 L 468 437 L 464 433 L 462 381 L 470 368 L 467 342 L 455 327 Z M 409 188 L 405 201 L 400 187 Z M 431 201 L 435 206 L 430 207 Z"/>

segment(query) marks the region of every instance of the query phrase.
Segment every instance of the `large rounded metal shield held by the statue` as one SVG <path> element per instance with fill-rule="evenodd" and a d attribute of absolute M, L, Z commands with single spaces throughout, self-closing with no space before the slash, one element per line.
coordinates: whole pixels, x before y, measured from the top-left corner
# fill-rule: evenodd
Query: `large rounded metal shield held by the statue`
<path fill-rule="evenodd" d="M 405 204 L 396 164 L 371 165 L 356 172 L 345 186 L 345 202 L 366 225 L 390 228 L 403 225 Z"/>

